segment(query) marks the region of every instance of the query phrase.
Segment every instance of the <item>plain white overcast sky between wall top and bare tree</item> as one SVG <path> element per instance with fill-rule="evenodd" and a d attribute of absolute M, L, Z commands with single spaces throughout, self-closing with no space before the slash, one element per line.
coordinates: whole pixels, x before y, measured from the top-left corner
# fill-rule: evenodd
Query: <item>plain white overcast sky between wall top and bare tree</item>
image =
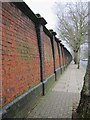
<path fill-rule="evenodd" d="M 39 13 L 47 21 L 46 27 L 56 32 L 55 2 L 76 2 L 79 0 L 24 0 L 24 2 L 35 13 Z M 81 0 L 88 2 L 89 0 Z"/>

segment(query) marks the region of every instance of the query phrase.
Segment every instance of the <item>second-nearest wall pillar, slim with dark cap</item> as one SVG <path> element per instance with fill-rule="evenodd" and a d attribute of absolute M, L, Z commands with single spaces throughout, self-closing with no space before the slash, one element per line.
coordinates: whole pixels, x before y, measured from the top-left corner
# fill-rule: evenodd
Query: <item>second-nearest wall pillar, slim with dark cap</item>
<path fill-rule="evenodd" d="M 55 36 L 57 35 L 56 32 L 53 30 L 49 30 L 53 37 L 52 37 L 52 51 L 53 51 L 53 61 L 54 61 L 54 73 L 55 73 L 55 81 L 57 80 L 56 78 L 56 63 L 55 63 L 55 46 L 54 46 L 54 41 L 55 41 Z"/>

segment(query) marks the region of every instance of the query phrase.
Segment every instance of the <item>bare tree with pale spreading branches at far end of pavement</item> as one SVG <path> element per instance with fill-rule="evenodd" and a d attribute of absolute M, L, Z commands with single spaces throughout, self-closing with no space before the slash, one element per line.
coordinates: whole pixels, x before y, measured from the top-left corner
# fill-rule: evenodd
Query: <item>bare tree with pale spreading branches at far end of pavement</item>
<path fill-rule="evenodd" d="M 64 9 L 57 4 L 58 34 L 61 40 L 66 41 L 74 52 L 74 62 L 80 62 L 80 45 L 87 36 L 88 6 L 87 3 L 67 3 Z M 62 12 L 61 12 L 62 11 Z"/>

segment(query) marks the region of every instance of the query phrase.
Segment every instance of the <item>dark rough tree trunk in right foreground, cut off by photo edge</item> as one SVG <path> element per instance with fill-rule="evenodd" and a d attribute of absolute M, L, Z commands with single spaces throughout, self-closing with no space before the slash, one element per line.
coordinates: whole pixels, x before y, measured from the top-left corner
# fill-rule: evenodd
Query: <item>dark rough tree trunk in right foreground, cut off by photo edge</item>
<path fill-rule="evenodd" d="M 77 113 L 79 118 L 90 118 L 90 56 Z"/>

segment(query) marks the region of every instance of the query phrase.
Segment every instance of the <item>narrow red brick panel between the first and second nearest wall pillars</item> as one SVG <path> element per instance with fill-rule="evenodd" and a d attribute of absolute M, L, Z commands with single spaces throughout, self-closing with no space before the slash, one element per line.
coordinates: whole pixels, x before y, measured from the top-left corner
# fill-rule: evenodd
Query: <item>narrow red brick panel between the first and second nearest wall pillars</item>
<path fill-rule="evenodd" d="M 52 53 L 52 45 L 50 38 L 43 33 L 44 44 L 44 77 L 47 78 L 54 73 L 54 61 Z"/>

